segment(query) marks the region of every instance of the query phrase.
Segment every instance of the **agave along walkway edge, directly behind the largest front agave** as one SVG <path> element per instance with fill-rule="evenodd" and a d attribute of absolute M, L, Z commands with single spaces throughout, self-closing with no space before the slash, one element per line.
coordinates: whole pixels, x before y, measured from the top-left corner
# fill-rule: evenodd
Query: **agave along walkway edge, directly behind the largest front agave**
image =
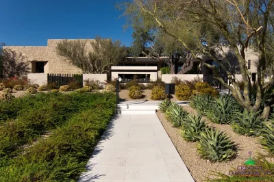
<path fill-rule="evenodd" d="M 188 142 L 196 142 L 199 140 L 201 131 L 206 129 L 206 123 L 201 120 L 201 116 L 188 115 L 184 119 L 184 125 L 182 126 L 182 137 Z"/>

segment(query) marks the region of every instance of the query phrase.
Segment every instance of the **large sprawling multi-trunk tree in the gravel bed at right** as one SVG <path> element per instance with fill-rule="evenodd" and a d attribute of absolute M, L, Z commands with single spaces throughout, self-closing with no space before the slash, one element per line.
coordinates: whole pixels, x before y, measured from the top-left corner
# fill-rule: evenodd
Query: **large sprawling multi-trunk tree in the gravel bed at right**
<path fill-rule="evenodd" d="M 160 29 L 165 34 L 182 43 L 184 48 L 195 57 L 210 57 L 218 62 L 229 82 L 219 76 L 219 69 L 214 65 L 203 62 L 210 68 L 214 79 L 231 90 L 233 96 L 247 110 L 258 111 L 266 92 L 273 86 L 274 77 L 265 81 L 267 57 L 273 34 L 273 5 L 272 0 L 133 0 L 121 4 L 129 24 L 134 18 L 143 21 L 145 25 Z M 235 80 L 235 73 L 230 60 L 217 56 L 212 49 L 219 49 L 226 55 L 224 48 L 231 50 L 236 56 L 240 75 L 244 83 L 243 93 Z M 246 52 L 253 49 L 258 53 L 257 87 L 255 101 L 251 99 L 251 77 L 247 69 Z M 273 87 L 272 87 L 273 88 Z M 269 116 L 273 95 L 264 103 L 262 117 Z"/>

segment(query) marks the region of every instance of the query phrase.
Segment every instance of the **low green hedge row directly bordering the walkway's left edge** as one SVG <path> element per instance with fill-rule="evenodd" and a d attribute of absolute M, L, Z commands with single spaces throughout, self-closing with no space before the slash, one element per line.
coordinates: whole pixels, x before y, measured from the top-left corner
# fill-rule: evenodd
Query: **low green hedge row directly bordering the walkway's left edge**
<path fill-rule="evenodd" d="M 48 138 L 2 166 L 0 181 L 77 181 L 114 114 L 114 94 L 97 96 L 93 109 L 75 114 Z"/>

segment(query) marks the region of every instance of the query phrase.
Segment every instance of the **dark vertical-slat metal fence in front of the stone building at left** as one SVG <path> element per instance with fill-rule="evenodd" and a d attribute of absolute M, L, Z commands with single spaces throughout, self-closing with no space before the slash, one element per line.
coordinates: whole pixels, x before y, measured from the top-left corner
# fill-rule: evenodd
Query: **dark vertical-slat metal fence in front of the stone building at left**
<path fill-rule="evenodd" d="M 55 83 L 56 86 L 64 86 L 76 81 L 81 86 L 83 85 L 82 74 L 47 74 L 47 83 Z"/>

